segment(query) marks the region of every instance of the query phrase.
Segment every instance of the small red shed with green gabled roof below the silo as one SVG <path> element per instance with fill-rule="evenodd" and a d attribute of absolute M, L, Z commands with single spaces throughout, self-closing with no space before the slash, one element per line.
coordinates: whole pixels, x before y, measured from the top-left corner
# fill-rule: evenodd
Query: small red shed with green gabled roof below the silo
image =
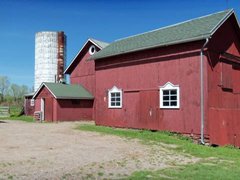
<path fill-rule="evenodd" d="M 94 97 L 81 85 L 42 83 L 33 99 L 41 120 L 92 120 Z"/>

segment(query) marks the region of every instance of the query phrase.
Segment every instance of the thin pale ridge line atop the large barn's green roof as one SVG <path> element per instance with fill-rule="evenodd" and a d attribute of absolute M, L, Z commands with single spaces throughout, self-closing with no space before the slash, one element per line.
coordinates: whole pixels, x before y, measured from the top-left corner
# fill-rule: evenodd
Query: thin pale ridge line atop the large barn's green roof
<path fill-rule="evenodd" d="M 151 33 L 151 32 L 155 32 L 155 31 L 158 31 L 158 30 L 162 30 L 162 29 L 178 26 L 180 24 L 184 24 L 184 23 L 187 23 L 187 22 L 191 22 L 191 21 L 194 21 L 194 20 L 197 20 L 197 19 L 202 19 L 202 18 L 205 18 L 205 17 L 209 17 L 209 16 L 212 16 L 212 15 L 220 14 L 220 13 L 227 12 L 227 11 L 229 11 L 228 13 L 230 13 L 230 12 L 233 12 L 233 9 L 227 9 L 227 10 L 224 10 L 224 11 L 219 11 L 219 12 L 215 12 L 215 13 L 212 13 L 212 14 L 207 14 L 207 15 L 204 15 L 204 16 L 200 16 L 200 17 L 196 17 L 196 18 L 193 18 L 193 19 L 189 19 L 189 20 L 186 20 L 186 21 L 181 21 L 181 22 L 178 22 L 178 23 L 175 23 L 175 24 L 171 24 L 171 25 L 168 25 L 168 26 L 160 27 L 160 28 L 157 28 L 157 29 L 153 29 L 153 30 L 150 30 L 150 31 L 143 32 L 143 33 L 139 33 L 139 34 L 131 35 L 131 36 L 128 36 L 128 37 L 120 38 L 120 39 L 115 40 L 114 42 L 122 41 L 122 40 L 125 40 L 125 39 L 128 39 L 128 38 L 133 38 L 133 37 L 136 37 L 136 36 L 141 36 L 141 35 L 144 35 L 144 34 L 147 34 L 147 33 Z M 223 17 L 223 19 L 224 18 L 225 17 Z"/>

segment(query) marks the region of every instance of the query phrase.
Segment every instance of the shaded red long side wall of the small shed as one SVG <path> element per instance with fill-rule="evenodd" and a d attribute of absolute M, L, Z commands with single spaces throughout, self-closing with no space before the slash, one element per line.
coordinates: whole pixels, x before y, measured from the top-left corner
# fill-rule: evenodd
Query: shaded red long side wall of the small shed
<path fill-rule="evenodd" d="M 57 120 L 92 120 L 93 100 L 57 100 Z"/>

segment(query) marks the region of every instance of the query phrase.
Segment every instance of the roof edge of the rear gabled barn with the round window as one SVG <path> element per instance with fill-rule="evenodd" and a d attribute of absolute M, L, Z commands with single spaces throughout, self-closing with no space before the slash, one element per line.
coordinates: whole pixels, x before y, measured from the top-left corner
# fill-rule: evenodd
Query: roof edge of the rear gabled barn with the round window
<path fill-rule="evenodd" d="M 77 58 L 81 53 L 83 53 L 83 49 L 84 47 L 88 44 L 94 44 L 95 46 L 97 46 L 99 49 L 103 49 L 106 46 L 109 45 L 109 43 L 103 42 L 103 41 L 99 41 L 96 39 L 92 39 L 89 38 L 85 44 L 83 45 L 83 47 L 78 51 L 77 55 L 73 58 L 72 62 L 69 64 L 69 66 L 66 68 L 66 70 L 64 71 L 64 74 L 70 74 L 72 72 L 72 70 L 74 69 L 74 67 L 78 64 L 79 59 Z"/>

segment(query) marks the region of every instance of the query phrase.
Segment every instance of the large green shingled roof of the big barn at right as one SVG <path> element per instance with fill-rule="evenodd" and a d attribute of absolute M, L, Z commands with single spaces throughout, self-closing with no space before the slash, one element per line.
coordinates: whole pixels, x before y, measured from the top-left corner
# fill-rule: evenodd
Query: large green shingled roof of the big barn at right
<path fill-rule="evenodd" d="M 90 59 L 101 59 L 155 47 L 202 40 L 210 37 L 233 14 L 226 10 L 117 40 Z"/>

